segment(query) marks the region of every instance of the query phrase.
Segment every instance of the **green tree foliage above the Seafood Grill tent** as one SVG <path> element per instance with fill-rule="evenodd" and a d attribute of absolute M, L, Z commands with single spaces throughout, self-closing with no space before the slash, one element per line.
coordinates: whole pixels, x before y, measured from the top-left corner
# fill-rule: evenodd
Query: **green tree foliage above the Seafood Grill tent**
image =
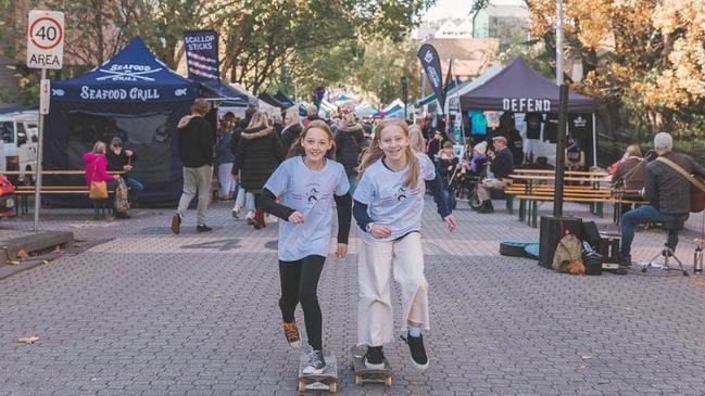
<path fill-rule="evenodd" d="M 307 99 L 317 86 L 356 82 L 365 60 L 365 47 L 383 42 L 398 55 L 408 31 L 435 0 L 46 0 L 41 7 L 63 11 L 66 17 L 64 59 L 56 77 L 73 77 L 115 54 L 139 35 L 158 58 L 177 68 L 184 59 L 182 35 L 189 29 L 213 28 L 221 37 L 221 73 L 259 93 L 280 88 Z M 39 5 L 30 1 L 29 8 Z M 0 0 L 0 11 L 13 8 Z M 16 59 L 21 48 L 16 31 L 22 22 L 0 18 L 0 54 Z M 403 47 L 403 46 L 402 46 Z M 372 63 L 382 53 L 372 52 Z M 17 63 L 24 63 L 23 60 Z M 410 77 L 415 58 L 401 62 Z M 414 60 L 414 62 L 411 62 Z M 399 61 L 392 62 L 400 64 Z M 72 66 L 79 65 L 79 66 Z M 23 74 L 28 78 L 34 72 Z M 367 85 L 382 98 L 398 97 L 400 71 L 386 67 L 374 73 L 390 81 Z M 372 77 L 372 76 L 370 76 Z M 412 79 L 413 84 L 413 79 Z M 29 82 L 25 87 L 32 86 Z M 413 85 L 412 85 L 413 86 Z M 382 89 L 383 88 L 383 89 Z M 414 90 L 410 87 L 410 92 Z"/>

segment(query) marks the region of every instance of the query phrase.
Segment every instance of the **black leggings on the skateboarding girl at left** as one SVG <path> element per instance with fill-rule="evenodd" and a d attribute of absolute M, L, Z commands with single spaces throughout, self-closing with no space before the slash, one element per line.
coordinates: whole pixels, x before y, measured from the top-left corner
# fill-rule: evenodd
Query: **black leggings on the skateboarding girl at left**
<path fill-rule="evenodd" d="M 303 319 L 306 323 L 309 344 L 320 350 L 323 316 L 318 305 L 318 279 L 326 257 L 311 255 L 297 261 L 279 260 L 279 279 L 281 280 L 281 318 L 285 322 L 294 321 L 293 312 L 301 303 Z"/>

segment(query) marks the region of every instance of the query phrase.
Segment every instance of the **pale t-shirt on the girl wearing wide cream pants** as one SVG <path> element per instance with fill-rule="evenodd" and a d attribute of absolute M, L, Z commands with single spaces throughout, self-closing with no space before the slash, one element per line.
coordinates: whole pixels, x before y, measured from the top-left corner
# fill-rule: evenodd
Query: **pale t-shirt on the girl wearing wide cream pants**
<path fill-rule="evenodd" d="M 416 154 L 420 173 L 416 186 L 406 187 L 408 166 L 399 171 L 388 168 L 382 159 L 370 165 L 363 173 L 353 199 L 367 205 L 367 214 L 376 225 L 390 227 L 389 238 L 376 239 L 369 232 L 363 238 L 368 241 L 393 241 L 421 228 L 421 210 L 426 194 L 425 180 L 436 178 L 436 168 L 427 155 Z"/>

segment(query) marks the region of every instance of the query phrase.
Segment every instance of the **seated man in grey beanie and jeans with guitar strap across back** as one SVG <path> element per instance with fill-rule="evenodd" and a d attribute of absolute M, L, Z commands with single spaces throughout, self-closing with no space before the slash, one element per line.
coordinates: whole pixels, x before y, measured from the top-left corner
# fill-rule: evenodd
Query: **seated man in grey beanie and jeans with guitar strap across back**
<path fill-rule="evenodd" d="M 705 168 L 682 153 L 673 153 L 673 139 L 666 132 L 654 137 L 654 150 L 658 157 L 676 163 L 689 175 L 705 177 Z M 642 197 L 651 205 L 643 205 L 621 216 L 621 247 L 619 264 L 631 265 L 631 242 L 637 225 L 687 220 L 690 216 L 690 189 L 694 188 L 684 176 L 660 159 L 646 164 Z M 676 246 L 669 246 L 676 248 Z"/>

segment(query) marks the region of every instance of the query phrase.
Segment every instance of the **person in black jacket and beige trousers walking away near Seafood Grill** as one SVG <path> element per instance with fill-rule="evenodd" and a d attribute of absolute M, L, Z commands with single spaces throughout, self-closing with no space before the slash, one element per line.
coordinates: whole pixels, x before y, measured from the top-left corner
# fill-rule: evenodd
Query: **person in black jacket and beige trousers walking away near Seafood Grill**
<path fill-rule="evenodd" d="M 178 208 L 172 219 L 172 231 L 179 233 L 181 219 L 197 195 L 197 232 L 207 232 L 212 229 L 205 225 L 205 210 L 211 200 L 211 180 L 213 178 L 213 135 L 211 125 L 205 116 L 211 104 L 199 98 L 191 106 L 191 115 L 182 117 L 178 123 L 178 153 L 184 164 L 184 193 Z"/>

